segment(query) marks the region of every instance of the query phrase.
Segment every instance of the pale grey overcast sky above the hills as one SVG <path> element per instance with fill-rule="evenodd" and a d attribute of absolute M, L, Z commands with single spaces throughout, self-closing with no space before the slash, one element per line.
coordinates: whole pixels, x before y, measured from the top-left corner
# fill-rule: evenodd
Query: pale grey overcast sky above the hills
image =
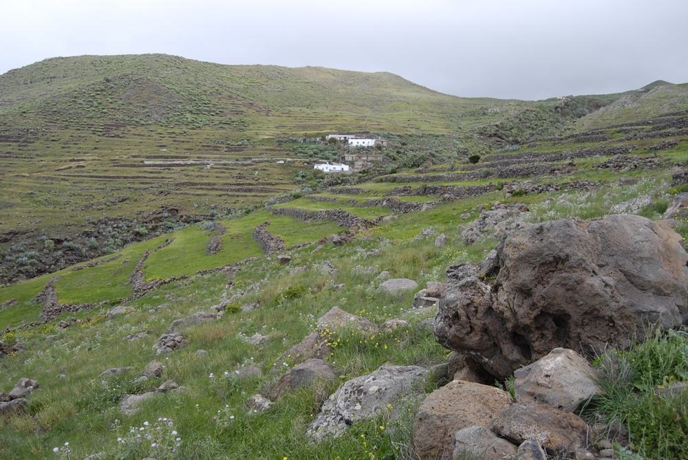
<path fill-rule="evenodd" d="M 456 96 L 688 83 L 686 0 L 0 0 L 0 74 L 55 56 L 392 72 Z"/>

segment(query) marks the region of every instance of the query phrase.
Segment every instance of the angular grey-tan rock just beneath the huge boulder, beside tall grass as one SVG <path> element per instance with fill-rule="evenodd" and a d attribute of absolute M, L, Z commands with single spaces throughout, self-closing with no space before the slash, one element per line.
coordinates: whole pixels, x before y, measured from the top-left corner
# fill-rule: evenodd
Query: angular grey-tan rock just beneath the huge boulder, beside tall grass
<path fill-rule="evenodd" d="M 533 401 L 572 412 L 599 392 L 595 370 L 573 350 L 555 348 L 548 355 L 514 371 L 518 402 Z"/>

